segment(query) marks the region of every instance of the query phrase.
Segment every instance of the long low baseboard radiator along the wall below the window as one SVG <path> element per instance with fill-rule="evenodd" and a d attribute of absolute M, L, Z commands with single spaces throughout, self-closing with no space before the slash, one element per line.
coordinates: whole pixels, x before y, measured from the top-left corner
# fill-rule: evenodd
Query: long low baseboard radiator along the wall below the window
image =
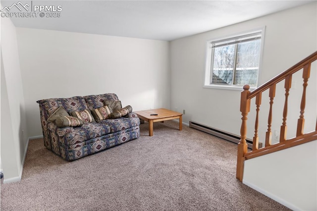
<path fill-rule="evenodd" d="M 205 133 L 209 133 L 213 136 L 222 138 L 224 140 L 227 140 L 227 141 L 230 141 L 230 142 L 233 142 L 236 144 L 238 144 L 240 141 L 240 137 L 235 135 L 235 134 L 228 133 L 228 132 L 225 132 L 225 131 L 222 131 L 219 129 L 215 129 L 215 128 L 212 128 L 210 126 L 198 123 L 198 122 L 189 121 L 189 127 L 203 131 Z M 252 140 L 247 139 L 248 148 L 252 149 L 252 143 L 253 143 Z M 259 149 L 260 148 L 262 148 L 262 143 L 259 143 Z"/>

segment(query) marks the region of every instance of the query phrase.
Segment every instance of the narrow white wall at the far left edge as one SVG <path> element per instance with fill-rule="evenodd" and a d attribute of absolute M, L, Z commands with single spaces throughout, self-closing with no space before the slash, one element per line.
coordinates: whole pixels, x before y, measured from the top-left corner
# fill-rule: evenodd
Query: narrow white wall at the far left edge
<path fill-rule="evenodd" d="M 9 18 L 1 18 L 1 163 L 4 183 L 20 180 L 27 137 L 16 31 Z"/>

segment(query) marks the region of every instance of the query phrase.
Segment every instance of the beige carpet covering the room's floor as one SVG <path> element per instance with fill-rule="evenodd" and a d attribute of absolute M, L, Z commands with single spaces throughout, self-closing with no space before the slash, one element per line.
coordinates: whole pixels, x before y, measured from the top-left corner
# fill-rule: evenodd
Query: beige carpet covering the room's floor
<path fill-rule="evenodd" d="M 1 211 L 288 210 L 235 178 L 236 144 L 174 121 L 155 123 L 153 137 L 147 122 L 140 128 L 140 138 L 75 161 L 31 140 L 22 180 L 1 181 Z"/>

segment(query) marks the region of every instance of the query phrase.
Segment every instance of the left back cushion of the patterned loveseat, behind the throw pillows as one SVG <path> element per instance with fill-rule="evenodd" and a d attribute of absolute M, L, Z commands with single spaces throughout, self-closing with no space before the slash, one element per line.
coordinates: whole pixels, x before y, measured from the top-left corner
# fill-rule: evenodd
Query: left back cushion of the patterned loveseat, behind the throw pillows
<path fill-rule="evenodd" d="M 71 98 L 50 98 L 37 101 L 37 103 L 42 108 L 41 115 L 44 115 L 46 120 L 48 120 L 59 106 L 62 106 L 68 113 L 88 108 L 85 99 L 81 96 Z"/>

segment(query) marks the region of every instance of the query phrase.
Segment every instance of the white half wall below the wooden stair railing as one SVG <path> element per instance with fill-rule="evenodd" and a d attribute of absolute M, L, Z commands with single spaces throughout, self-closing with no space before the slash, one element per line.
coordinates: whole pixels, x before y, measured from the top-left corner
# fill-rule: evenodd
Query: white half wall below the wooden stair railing
<path fill-rule="evenodd" d="M 292 210 L 317 210 L 317 141 L 244 163 L 244 184 Z"/>

